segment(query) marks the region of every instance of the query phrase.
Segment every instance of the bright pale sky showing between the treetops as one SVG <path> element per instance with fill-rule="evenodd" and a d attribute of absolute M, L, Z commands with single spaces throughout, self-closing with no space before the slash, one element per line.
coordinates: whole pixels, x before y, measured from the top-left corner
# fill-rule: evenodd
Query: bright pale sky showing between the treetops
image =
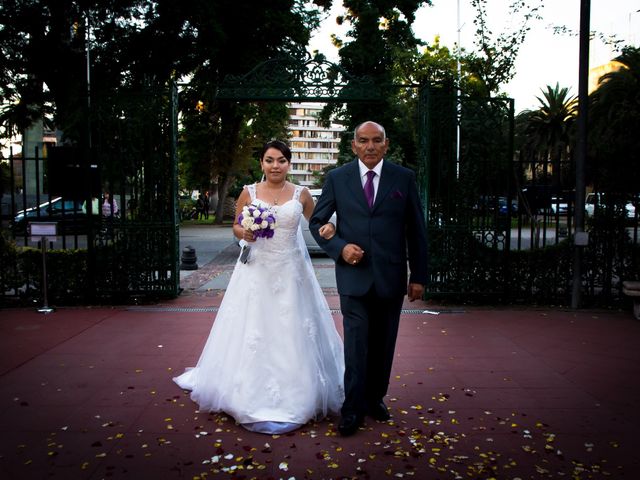
<path fill-rule="evenodd" d="M 546 86 L 569 88 L 578 95 L 578 60 L 580 27 L 580 0 L 528 0 L 542 3 L 541 20 L 532 21 L 524 44 L 516 59 L 516 75 L 503 91 L 515 99 L 515 110 L 538 108 L 536 97 L 542 96 Z M 430 7 L 422 7 L 413 24 L 416 37 L 433 43 L 436 35 L 440 44 L 452 51 L 460 39 L 462 48 L 474 51 L 473 35 L 475 10 L 470 0 L 433 0 Z M 513 0 L 487 0 L 489 28 L 495 36 L 513 31 L 520 18 L 513 20 L 509 5 Z M 458 23 L 458 4 L 460 22 Z M 640 0 L 591 0 L 590 30 L 599 36 L 622 40 L 625 44 L 640 43 Z M 310 50 L 319 50 L 331 61 L 337 61 L 337 49 L 331 45 L 330 35 L 344 37 L 346 29 L 335 24 L 335 15 L 342 11 L 342 1 L 334 0 L 331 14 L 322 28 L 313 36 Z M 460 25 L 460 28 L 458 28 Z M 510 25 L 513 25 L 510 27 Z M 564 26 L 575 35 L 554 34 L 553 27 Z M 460 34 L 458 35 L 458 30 Z M 620 52 L 599 39 L 589 45 L 589 67 L 594 68 L 615 58 Z"/>

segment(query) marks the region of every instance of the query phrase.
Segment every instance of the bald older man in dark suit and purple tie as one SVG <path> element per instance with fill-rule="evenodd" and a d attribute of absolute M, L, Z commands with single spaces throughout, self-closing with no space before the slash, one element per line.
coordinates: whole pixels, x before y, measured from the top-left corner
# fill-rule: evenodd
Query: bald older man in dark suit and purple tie
<path fill-rule="evenodd" d="M 358 159 L 327 175 L 310 221 L 336 262 L 344 325 L 345 401 L 338 430 L 354 434 L 365 415 L 386 421 L 387 394 L 404 295 L 422 297 L 427 235 L 414 173 L 383 159 L 384 128 L 364 122 L 351 142 Z M 329 240 L 318 229 L 337 214 Z M 407 285 L 407 258 L 410 275 Z"/>

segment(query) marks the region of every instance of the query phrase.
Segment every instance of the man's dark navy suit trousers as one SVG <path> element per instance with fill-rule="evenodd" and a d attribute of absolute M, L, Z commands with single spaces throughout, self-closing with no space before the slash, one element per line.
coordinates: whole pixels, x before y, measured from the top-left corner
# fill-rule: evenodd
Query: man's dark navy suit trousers
<path fill-rule="evenodd" d="M 389 388 L 404 295 L 381 298 L 375 286 L 363 296 L 340 295 L 344 330 L 345 400 L 342 415 L 364 415 Z"/>

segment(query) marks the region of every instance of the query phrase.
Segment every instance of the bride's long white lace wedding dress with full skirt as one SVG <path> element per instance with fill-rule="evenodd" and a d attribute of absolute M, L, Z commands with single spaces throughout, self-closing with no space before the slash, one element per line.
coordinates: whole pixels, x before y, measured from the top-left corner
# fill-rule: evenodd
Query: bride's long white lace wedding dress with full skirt
<path fill-rule="evenodd" d="M 252 203 L 270 207 L 248 188 Z M 273 206 L 277 227 L 238 261 L 197 365 L 174 381 L 200 410 L 284 433 L 339 412 L 344 353 L 299 228 L 302 187 Z"/>

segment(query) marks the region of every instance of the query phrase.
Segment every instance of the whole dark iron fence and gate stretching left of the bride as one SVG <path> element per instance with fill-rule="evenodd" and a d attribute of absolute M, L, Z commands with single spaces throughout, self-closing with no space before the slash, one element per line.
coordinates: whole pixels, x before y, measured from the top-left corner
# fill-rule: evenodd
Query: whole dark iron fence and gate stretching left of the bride
<path fill-rule="evenodd" d="M 45 142 L 9 158 L 0 249 L 4 300 L 30 300 L 42 291 L 40 244 L 29 224 L 43 221 L 57 224 L 57 237 L 47 240 L 54 301 L 179 292 L 177 89 L 94 96 L 89 112 L 91 136 L 82 147 Z M 110 212 L 102 205 L 105 191 L 117 205 Z M 30 246 L 36 248 L 16 248 Z"/>

